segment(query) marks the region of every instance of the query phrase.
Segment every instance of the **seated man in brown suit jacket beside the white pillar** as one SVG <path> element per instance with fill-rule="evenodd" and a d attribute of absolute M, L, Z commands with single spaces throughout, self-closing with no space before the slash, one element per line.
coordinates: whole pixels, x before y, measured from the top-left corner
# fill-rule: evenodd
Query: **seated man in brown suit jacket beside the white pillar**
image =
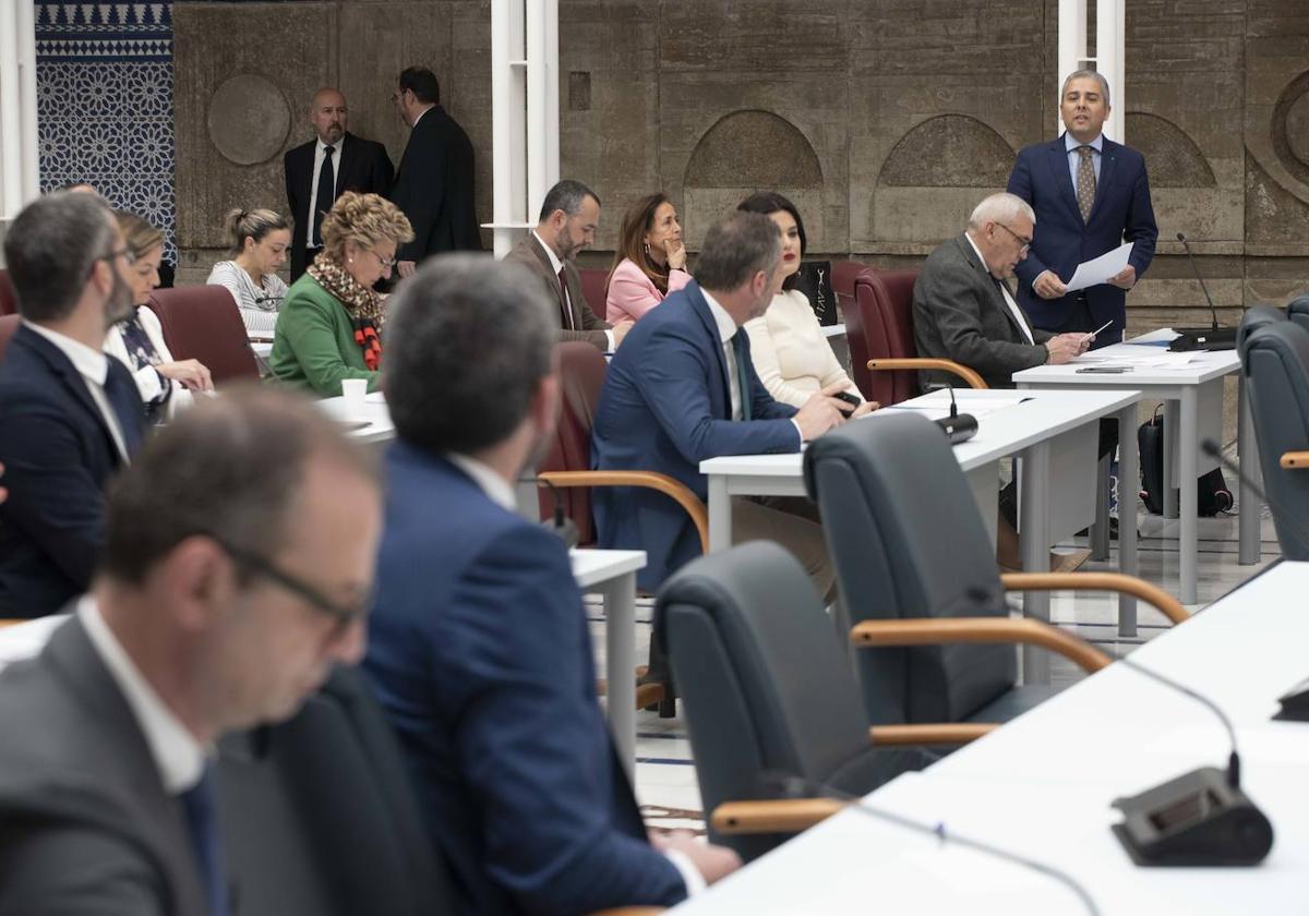
<path fill-rule="evenodd" d="M 554 304 L 560 342 L 585 340 L 606 353 L 618 348 L 632 322 L 610 326 L 586 302 L 577 253 L 596 242 L 600 198 L 581 182 L 564 179 L 546 192 L 537 228 L 504 256 L 541 277 Z"/>

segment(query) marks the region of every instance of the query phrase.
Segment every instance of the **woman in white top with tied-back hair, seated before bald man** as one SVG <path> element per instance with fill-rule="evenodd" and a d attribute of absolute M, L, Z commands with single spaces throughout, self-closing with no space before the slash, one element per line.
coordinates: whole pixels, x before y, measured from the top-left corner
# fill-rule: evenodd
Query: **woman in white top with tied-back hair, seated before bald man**
<path fill-rule="evenodd" d="M 287 263 L 291 229 L 275 209 L 233 209 L 224 224 L 236 258 L 215 264 L 208 283 L 232 293 L 246 334 L 271 338 L 287 298 L 287 284 L 278 270 Z"/>

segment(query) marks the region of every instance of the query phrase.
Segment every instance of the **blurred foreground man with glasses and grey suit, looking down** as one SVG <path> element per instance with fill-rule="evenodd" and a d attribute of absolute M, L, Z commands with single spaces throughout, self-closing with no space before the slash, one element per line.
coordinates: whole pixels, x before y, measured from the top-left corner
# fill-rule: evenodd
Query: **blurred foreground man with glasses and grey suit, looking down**
<path fill-rule="evenodd" d="M 372 461 L 288 393 L 229 390 L 145 445 L 90 594 L 0 673 L 0 912 L 232 911 L 213 742 L 360 660 L 380 531 Z"/>

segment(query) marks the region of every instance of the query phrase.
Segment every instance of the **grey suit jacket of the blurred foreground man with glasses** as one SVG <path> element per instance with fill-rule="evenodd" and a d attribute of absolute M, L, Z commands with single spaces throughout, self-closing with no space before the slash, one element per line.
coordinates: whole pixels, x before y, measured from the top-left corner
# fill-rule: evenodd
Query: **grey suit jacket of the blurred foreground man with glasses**
<path fill-rule="evenodd" d="M 208 916 L 181 805 L 75 618 L 0 673 L 0 915 Z"/>

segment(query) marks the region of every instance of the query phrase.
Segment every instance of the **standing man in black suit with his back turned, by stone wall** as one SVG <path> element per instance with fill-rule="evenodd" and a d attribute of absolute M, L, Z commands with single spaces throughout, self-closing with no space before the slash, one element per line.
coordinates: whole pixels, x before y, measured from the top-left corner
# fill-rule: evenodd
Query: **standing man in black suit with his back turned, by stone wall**
<path fill-rule="evenodd" d="M 410 140 L 391 188 L 391 203 L 414 226 L 414 241 L 401 246 L 401 277 L 428 255 L 480 251 L 473 141 L 441 107 L 441 84 L 427 67 L 401 72 L 391 96 Z"/>

